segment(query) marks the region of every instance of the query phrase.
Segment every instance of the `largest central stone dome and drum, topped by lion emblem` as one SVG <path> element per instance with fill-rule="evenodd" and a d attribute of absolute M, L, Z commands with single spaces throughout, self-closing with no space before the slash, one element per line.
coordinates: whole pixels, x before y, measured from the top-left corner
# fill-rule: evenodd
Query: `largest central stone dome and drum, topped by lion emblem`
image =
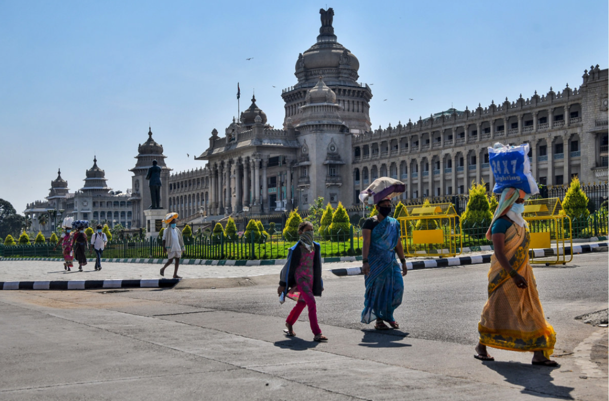
<path fill-rule="evenodd" d="M 340 119 L 352 133 L 364 133 L 370 130 L 370 99 L 372 91 L 365 83 L 358 83 L 359 61 L 348 49 L 336 41 L 332 26 L 334 10 L 319 10 L 322 27 L 319 29 L 317 43 L 304 53 L 298 55 L 294 75 L 298 83 L 281 93 L 286 105 L 284 127 L 287 119 L 292 119 L 296 126 L 303 117 L 301 107 L 305 105 L 307 91 L 315 86 L 319 76 L 336 94 Z"/>

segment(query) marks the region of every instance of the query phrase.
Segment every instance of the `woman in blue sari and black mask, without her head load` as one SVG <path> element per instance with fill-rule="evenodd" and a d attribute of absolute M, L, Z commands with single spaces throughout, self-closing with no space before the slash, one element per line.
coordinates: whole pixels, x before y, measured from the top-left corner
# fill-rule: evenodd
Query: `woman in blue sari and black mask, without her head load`
<path fill-rule="evenodd" d="M 364 248 L 362 249 L 366 293 L 362 323 L 368 324 L 376 319 L 376 330 L 400 328 L 393 318 L 393 311 L 402 303 L 406 259 L 400 241 L 400 223 L 389 217 L 391 200 L 382 199 L 376 204 L 378 215 L 366 219 L 362 227 Z M 398 253 L 400 264 L 395 260 Z"/>

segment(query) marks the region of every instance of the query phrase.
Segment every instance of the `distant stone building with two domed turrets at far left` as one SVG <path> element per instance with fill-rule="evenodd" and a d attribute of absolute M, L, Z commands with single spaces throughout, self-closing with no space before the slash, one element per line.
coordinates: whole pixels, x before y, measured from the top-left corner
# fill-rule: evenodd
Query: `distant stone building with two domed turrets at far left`
<path fill-rule="evenodd" d="M 30 230 L 40 230 L 49 236 L 55 227 L 60 227 L 62 219 L 69 216 L 75 220 L 105 222 L 109 227 L 121 224 L 129 228 L 132 219 L 130 196 L 121 191 L 112 191 L 107 186 L 105 172 L 97 166 L 97 158 L 93 158 L 93 166 L 86 170 L 84 181 L 85 185 L 80 190 L 70 193 L 68 182 L 62 179 L 61 171 L 58 171 L 57 178 L 51 181 L 46 200 L 28 204 L 23 212 L 32 219 Z M 41 215 L 49 216 L 44 225 L 39 221 Z"/>

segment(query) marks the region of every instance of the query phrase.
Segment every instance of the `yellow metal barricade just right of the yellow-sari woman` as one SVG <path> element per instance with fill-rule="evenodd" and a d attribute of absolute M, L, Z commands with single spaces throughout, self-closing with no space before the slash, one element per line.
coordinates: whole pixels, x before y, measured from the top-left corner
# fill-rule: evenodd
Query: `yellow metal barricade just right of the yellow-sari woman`
<path fill-rule="evenodd" d="M 537 264 L 566 264 L 573 260 L 571 218 L 565 214 L 560 199 L 531 199 L 524 202 L 524 219 L 529 224 L 530 260 Z M 554 246 L 553 246 L 554 245 Z M 562 252 L 560 252 L 562 245 Z M 569 246 L 569 260 L 565 247 Z M 554 249 L 546 254 L 541 249 Z M 537 249 L 537 252 L 535 252 Z"/>

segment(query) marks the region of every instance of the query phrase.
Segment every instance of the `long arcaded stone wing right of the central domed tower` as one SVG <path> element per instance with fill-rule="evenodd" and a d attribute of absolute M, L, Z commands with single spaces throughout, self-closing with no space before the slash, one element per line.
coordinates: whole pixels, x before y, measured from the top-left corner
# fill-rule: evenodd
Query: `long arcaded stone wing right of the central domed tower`
<path fill-rule="evenodd" d="M 404 199 L 466 193 L 470 183 L 494 185 L 488 147 L 530 145 L 533 176 L 544 185 L 607 180 L 608 70 L 592 66 L 579 88 L 537 91 L 531 98 L 454 109 L 353 138 L 353 202 L 380 176 L 406 183 Z"/>

